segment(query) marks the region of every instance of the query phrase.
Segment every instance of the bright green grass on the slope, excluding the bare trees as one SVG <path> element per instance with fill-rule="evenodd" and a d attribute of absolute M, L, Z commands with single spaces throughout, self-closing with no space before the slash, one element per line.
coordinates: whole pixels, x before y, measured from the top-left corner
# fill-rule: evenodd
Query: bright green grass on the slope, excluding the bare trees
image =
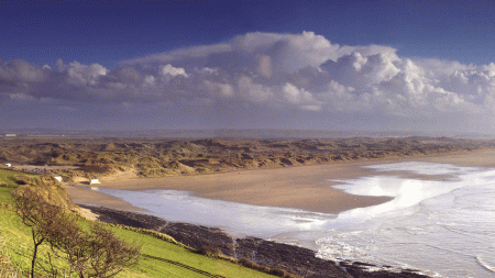
<path fill-rule="evenodd" d="M 12 179 L 21 173 L 0 169 L 0 278 L 28 277 L 33 243 L 31 230 L 12 211 L 11 191 L 18 187 Z M 87 220 L 81 219 L 84 225 Z M 273 277 L 241 265 L 196 254 L 194 251 L 139 231 L 110 226 L 124 241 L 142 246 L 138 266 L 125 269 L 117 277 Z M 42 245 L 40 262 L 48 259 L 50 249 Z M 55 266 L 65 269 L 66 263 L 55 259 Z M 40 276 L 43 277 L 43 276 Z"/>

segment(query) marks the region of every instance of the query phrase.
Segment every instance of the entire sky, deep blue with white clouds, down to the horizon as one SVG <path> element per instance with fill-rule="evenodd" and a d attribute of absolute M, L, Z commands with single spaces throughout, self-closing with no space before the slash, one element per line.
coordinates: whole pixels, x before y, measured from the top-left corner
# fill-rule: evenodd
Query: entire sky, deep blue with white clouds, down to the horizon
<path fill-rule="evenodd" d="M 0 130 L 495 133 L 492 1 L 0 0 Z"/>

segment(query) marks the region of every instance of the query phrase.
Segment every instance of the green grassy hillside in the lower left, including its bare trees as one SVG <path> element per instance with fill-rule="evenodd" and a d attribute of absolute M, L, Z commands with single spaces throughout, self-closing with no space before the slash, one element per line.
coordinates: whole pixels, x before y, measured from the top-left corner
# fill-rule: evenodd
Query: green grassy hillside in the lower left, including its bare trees
<path fill-rule="evenodd" d="M 215 249 L 200 255 L 157 232 L 88 221 L 50 176 L 0 169 L 0 180 L 7 185 L 0 191 L 1 278 L 293 277 L 244 267 Z"/>

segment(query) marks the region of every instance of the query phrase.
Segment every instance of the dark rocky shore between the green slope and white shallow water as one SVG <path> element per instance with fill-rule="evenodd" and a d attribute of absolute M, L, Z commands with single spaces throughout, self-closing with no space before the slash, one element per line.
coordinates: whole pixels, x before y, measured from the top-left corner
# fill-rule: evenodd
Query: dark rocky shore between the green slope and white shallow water
<path fill-rule="evenodd" d="M 207 227 L 188 223 L 169 222 L 152 215 L 112 210 L 103 207 L 82 205 L 98 215 L 98 220 L 111 224 L 121 224 L 153 230 L 173 236 L 177 242 L 195 249 L 209 246 L 220 249 L 224 255 L 235 258 L 248 258 L 258 265 L 280 268 L 302 277 L 323 278 L 425 278 L 411 269 L 400 273 L 377 270 L 366 271 L 372 265 L 356 262 L 321 259 L 316 252 L 294 245 L 280 244 L 256 237 L 233 238 L 217 227 Z"/>

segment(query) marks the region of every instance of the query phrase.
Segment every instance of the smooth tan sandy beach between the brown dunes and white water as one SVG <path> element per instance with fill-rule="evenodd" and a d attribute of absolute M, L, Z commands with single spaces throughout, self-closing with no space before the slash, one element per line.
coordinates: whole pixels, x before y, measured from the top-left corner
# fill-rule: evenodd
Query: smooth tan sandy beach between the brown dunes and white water
<path fill-rule="evenodd" d="M 407 158 L 373 159 L 365 162 L 332 163 L 326 165 L 299 166 L 273 169 L 240 170 L 211 175 L 174 176 L 162 178 L 103 179 L 99 188 L 121 190 L 184 190 L 197 197 L 240 202 L 245 204 L 295 208 L 314 212 L 339 213 L 345 210 L 374 205 L 389 200 L 389 197 L 353 196 L 331 186 L 342 180 L 371 175 L 399 175 L 417 179 L 444 179 L 446 176 L 421 176 L 410 173 L 376 173 L 370 166 L 400 162 L 429 162 L 458 166 L 495 167 L 495 149 L 446 155 L 416 156 Z M 125 177 L 125 178 L 124 178 Z M 76 203 L 91 203 L 118 210 L 142 211 L 140 208 L 95 190 L 87 185 L 66 187 Z"/>

